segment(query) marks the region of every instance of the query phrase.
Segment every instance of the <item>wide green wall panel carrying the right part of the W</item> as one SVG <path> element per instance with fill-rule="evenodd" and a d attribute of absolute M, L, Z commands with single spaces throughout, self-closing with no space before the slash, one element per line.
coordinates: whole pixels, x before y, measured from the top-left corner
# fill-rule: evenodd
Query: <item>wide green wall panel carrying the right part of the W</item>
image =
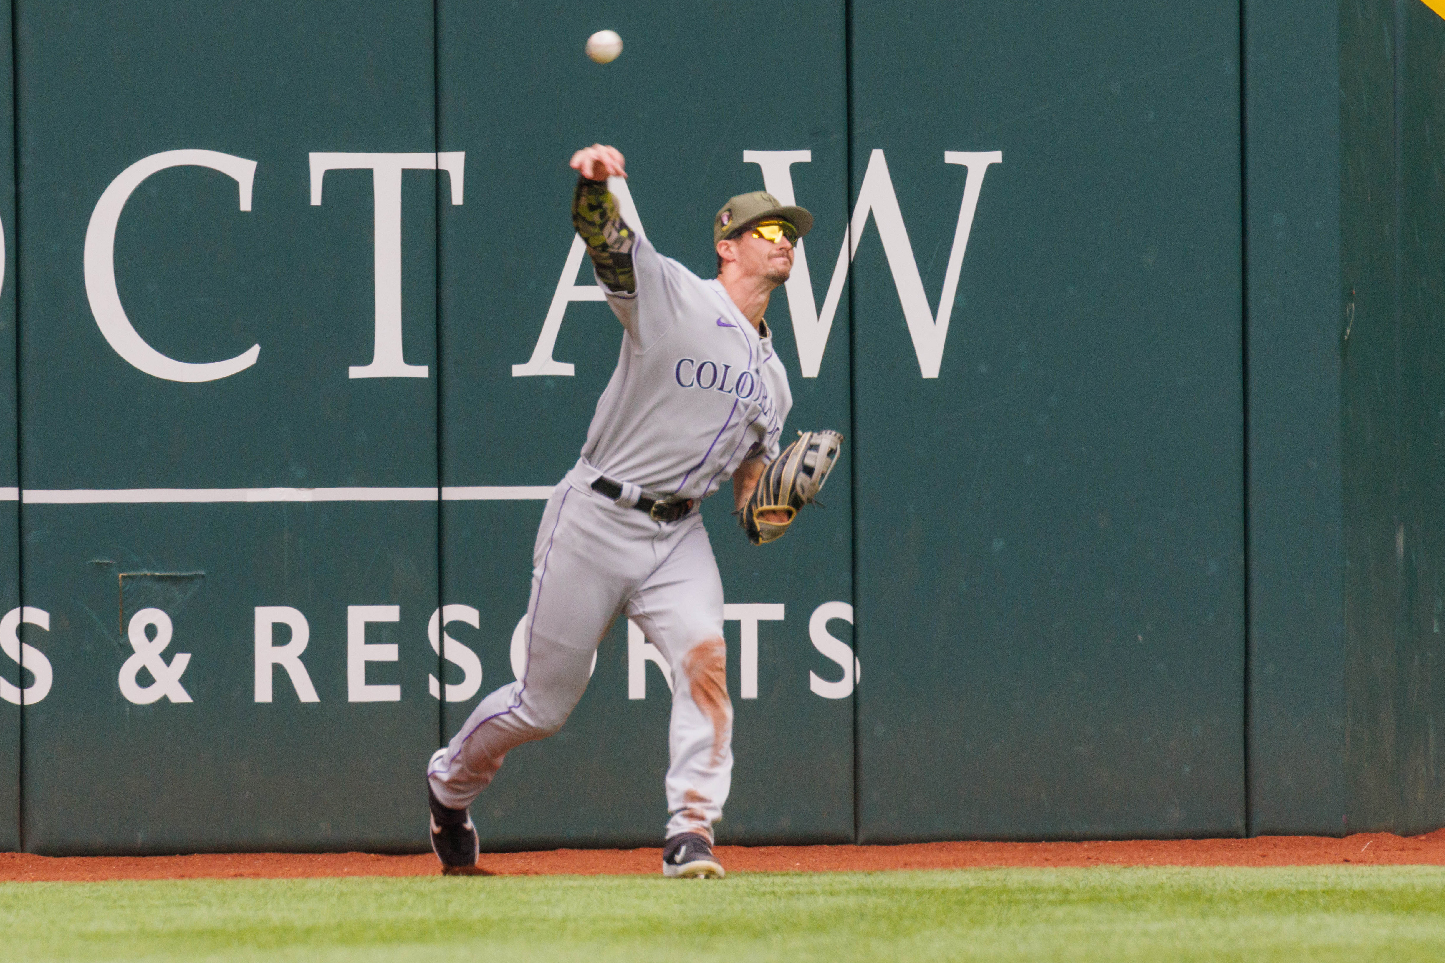
<path fill-rule="evenodd" d="M 1238 12 L 853 10 L 860 837 L 1243 833 Z"/>

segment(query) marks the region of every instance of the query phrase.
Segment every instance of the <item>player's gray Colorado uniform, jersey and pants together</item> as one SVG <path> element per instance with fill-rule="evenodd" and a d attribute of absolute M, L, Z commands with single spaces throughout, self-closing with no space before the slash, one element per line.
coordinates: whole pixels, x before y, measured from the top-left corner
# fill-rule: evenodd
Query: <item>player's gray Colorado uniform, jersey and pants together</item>
<path fill-rule="evenodd" d="M 722 582 L 695 507 L 656 521 L 636 505 L 701 501 L 744 459 L 776 458 L 792 394 L 766 323 L 754 329 L 720 282 L 621 234 L 623 244 L 611 240 L 630 257 L 623 280 L 598 270 L 623 322 L 621 351 L 582 456 L 538 530 L 526 670 L 481 700 L 428 778 L 442 804 L 470 806 L 512 748 L 562 726 L 592 653 L 626 614 L 672 667 L 666 836 L 711 839 L 733 770 Z M 621 494 L 605 497 L 598 479 Z"/>

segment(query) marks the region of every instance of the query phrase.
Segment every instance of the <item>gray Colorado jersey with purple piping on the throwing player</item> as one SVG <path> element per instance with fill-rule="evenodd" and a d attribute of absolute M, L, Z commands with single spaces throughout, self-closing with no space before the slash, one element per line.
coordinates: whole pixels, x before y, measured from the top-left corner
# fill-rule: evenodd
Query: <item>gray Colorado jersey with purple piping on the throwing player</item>
<path fill-rule="evenodd" d="M 720 282 L 646 238 L 631 257 L 634 293 L 600 283 L 624 334 L 582 458 L 650 497 L 705 498 L 746 458 L 777 456 L 793 404 L 788 372 L 772 335 L 753 329 Z"/>

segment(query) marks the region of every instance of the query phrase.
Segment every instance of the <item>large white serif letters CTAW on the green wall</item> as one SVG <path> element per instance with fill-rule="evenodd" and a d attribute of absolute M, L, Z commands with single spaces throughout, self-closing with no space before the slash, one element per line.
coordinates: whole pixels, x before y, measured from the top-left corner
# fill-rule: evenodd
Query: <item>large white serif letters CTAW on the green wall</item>
<path fill-rule="evenodd" d="M 743 160 L 756 163 L 763 173 L 763 185 L 783 204 L 795 204 L 792 166 L 808 163 L 811 150 L 746 150 Z M 465 152 L 441 153 L 321 153 L 309 154 L 311 160 L 311 204 L 321 205 L 327 172 L 370 170 L 373 185 L 374 215 L 374 282 L 376 319 L 371 360 L 351 365 L 351 378 L 426 378 L 429 368 L 423 364 L 407 364 L 403 352 L 402 326 L 402 176 L 405 170 L 441 170 L 449 176 L 451 204 L 464 202 Z M 889 175 L 883 150 L 873 150 L 863 186 L 854 205 L 853 219 L 838 250 L 838 260 L 828 283 L 828 293 L 819 309 L 814 300 L 812 276 L 808 267 L 806 243 L 799 241 L 792 277 L 786 283 L 789 313 L 793 319 L 793 335 L 798 342 L 799 367 L 805 378 L 818 377 L 828 334 L 838 310 L 838 300 L 847 280 L 848 266 L 863 241 L 870 215 L 874 218 L 883 250 L 887 254 L 899 292 L 899 302 L 907 322 L 907 331 L 918 355 L 919 371 L 925 378 L 936 378 L 948 339 L 948 325 L 958 290 L 968 235 L 978 209 L 984 175 L 988 167 L 1003 162 L 997 150 L 988 152 L 944 152 L 944 163 L 958 165 L 967 170 L 962 202 L 958 208 L 958 224 L 944 271 L 944 286 L 936 315 L 929 309 L 923 282 L 919 276 L 913 247 L 907 238 L 903 214 L 899 209 L 893 179 Z M 169 167 L 197 166 L 218 170 L 236 180 L 240 195 L 240 209 L 250 211 L 253 204 L 254 160 L 220 153 L 215 150 L 166 150 L 142 157 L 123 170 L 101 193 L 91 214 L 85 232 L 85 293 L 90 299 L 95 325 L 116 354 L 146 374 L 168 381 L 215 381 L 236 375 L 260 360 L 262 345 L 254 344 L 246 351 L 217 361 L 186 362 L 171 358 L 152 347 L 136 331 L 116 286 L 116 228 L 130 195 L 152 175 Z M 642 217 L 633 202 L 627 182 L 611 179 L 611 188 L 618 198 L 624 218 L 643 232 Z M 538 335 L 532 357 L 525 364 L 512 368 L 513 377 L 562 375 L 574 372 L 568 362 L 556 361 L 552 352 L 562 326 L 566 305 L 578 300 L 603 300 L 595 284 L 577 284 L 577 271 L 582 264 L 584 244 L 572 238 L 556 293 L 548 309 Z"/>

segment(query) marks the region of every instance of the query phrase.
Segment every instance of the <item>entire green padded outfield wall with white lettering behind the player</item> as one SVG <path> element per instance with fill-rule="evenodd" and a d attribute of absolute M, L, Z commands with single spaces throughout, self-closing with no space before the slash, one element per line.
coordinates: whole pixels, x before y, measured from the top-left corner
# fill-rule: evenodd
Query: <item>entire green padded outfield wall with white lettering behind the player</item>
<path fill-rule="evenodd" d="M 702 276 L 816 217 L 720 840 L 1445 824 L 1420 0 L 0 6 L 0 849 L 426 847 L 616 364 L 592 141 Z M 656 845 L 669 712 L 618 619 L 483 846 Z"/>

